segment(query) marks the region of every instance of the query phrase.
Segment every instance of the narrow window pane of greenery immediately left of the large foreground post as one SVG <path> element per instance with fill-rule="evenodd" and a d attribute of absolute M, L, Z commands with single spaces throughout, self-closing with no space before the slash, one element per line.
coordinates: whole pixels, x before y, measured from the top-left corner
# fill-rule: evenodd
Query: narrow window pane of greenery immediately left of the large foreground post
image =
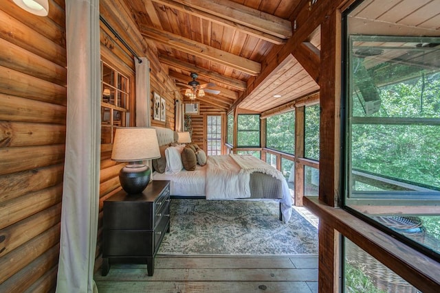
<path fill-rule="evenodd" d="M 319 160 L 319 105 L 305 107 L 304 155 Z"/>

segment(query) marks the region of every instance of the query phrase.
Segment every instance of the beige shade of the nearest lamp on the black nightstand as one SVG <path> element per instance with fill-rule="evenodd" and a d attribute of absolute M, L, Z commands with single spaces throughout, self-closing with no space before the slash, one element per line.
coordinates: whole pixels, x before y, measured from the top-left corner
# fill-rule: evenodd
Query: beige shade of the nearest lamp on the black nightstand
<path fill-rule="evenodd" d="M 117 128 L 111 159 L 120 162 L 160 158 L 156 130 L 144 127 Z"/>

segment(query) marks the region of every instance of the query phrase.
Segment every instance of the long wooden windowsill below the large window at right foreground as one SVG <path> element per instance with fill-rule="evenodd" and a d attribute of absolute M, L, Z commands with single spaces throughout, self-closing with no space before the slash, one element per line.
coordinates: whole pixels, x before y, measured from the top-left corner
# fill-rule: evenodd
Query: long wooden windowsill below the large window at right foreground
<path fill-rule="evenodd" d="M 440 263 L 410 248 L 383 231 L 340 208 L 329 207 L 318 198 L 304 197 L 305 207 L 320 221 L 399 274 L 422 292 L 440 292 Z"/>

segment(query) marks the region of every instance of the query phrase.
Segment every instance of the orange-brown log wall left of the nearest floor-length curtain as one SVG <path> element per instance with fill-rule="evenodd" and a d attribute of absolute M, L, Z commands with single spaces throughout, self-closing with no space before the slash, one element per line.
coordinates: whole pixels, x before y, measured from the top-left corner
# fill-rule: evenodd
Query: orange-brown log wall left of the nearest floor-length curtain
<path fill-rule="evenodd" d="M 54 290 L 66 132 L 65 3 L 0 1 L 0 291 Z"/>

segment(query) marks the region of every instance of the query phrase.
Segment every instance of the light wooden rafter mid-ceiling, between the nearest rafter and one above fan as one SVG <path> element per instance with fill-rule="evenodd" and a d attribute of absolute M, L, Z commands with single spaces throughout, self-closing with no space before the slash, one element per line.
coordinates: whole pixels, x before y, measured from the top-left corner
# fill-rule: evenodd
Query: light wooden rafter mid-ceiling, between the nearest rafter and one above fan
<path fill-rule="evenodd" d="M 146 36 L 151 40 L 162 43 L 173 49 L 184 51 L 185 53 L 210 60 L 212 62 L 217 62 L 221 65 L 248 73 L 252 76 L 256 76 L 261 73 L 261 64 L 259 62 L 255 62 L 241 56 L 236 56 L 227 51 L 222 51 L 203 43 L 196 42 L 190 38 L 184 38 L 183 36 L 179 36 L 177 34 L 172 34 L 164 30 L 157 30 L 154 27 L 147 27 L 144 25 L 140 27 L 140 31 L 143 36 Z"/>

